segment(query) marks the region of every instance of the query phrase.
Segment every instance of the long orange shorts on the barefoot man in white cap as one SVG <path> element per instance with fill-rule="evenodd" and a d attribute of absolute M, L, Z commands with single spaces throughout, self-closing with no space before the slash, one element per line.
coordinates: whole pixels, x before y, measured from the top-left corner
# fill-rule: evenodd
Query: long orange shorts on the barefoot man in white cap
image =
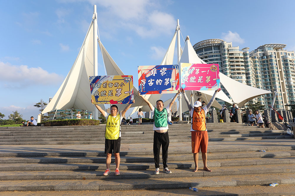
<path fill-rule="evenodd" d="M 199 153 L 200 147 L 202 153 L 207 153 L 208 140 L 209 138 L 207 131 L 191 131 L 192 153 Z"/>

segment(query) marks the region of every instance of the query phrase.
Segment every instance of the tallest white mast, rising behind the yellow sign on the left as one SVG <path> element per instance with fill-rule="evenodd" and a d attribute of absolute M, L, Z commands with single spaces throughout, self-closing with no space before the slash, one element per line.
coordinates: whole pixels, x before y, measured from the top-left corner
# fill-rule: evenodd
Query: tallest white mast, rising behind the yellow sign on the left
<path fill-rule="evenodd" d="M 97 12 L 96 5 L 94 5 L 94 18 L 93 18 L 93 67 L 94 67 L 94 76 L 98 76 L 98 67 L 97 67 Z M 94 107 L 94 119 L 98 120 L 98 109 Z"/>

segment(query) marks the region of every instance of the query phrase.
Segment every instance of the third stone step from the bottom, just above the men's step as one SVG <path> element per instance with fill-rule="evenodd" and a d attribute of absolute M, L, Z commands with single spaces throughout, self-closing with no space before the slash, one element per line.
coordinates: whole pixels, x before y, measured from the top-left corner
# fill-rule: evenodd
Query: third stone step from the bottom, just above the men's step
<path fill-rule="evenodd" d="M 199 167 L 203 167 L 201 157 L 199 157 Z M 272 165 L 295 164 L 295 157 L 275 157 L 275 158 L 239 158 L 239 159 L 219 159 L 208 160 L 209 168 L 228 167 L 228 166 L 251 166 L 251 165 Z M 0 171 L 46 171 L 46 170 L 104 170 L 105 163 L 6 163 L 0 164 Z M 153 169 L 155 163 L 120 163 L 120 170 L 147 170 Z M 194 161 L 168 161 L 169 169 L 194 168 Z M 115 163 L 111 163 L 111 170 L 116 169 Z"/>

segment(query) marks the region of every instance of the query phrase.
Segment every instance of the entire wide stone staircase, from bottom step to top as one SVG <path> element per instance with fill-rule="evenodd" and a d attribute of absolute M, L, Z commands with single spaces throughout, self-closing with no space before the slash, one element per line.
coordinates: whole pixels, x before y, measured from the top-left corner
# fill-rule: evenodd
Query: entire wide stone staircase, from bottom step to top
<path fill-rule="evenodd" d="M 273 182 L 294 186 L 293 136 L 237 123 L 208 123 L 207 128 L 207 165 L 212 172 L 202 170 L 201 155 L 199 171 L 192 172 L 190 125 L 173 124 L 168 153 L 172 174 L 160 168 L 154 175 L 152 125 L 123 125 L 119 176 L 114 175 L 113 156 L 111 174 L 102 175 L 105 125 L 0 128 L 0 190 L 139 190 Z"/>

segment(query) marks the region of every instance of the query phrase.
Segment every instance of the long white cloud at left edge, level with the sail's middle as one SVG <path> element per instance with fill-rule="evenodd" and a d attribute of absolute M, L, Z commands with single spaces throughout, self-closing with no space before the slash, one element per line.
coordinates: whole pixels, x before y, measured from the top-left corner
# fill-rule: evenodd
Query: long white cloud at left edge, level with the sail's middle
<path fill-rule="evenodd" d="M 25 88 L 29 85 L 55 85 L 63 81 L 56 73 L 48 73 L 41 67 L 11 65 L 0 61 L 0 81 L 4 87 Z"/>

